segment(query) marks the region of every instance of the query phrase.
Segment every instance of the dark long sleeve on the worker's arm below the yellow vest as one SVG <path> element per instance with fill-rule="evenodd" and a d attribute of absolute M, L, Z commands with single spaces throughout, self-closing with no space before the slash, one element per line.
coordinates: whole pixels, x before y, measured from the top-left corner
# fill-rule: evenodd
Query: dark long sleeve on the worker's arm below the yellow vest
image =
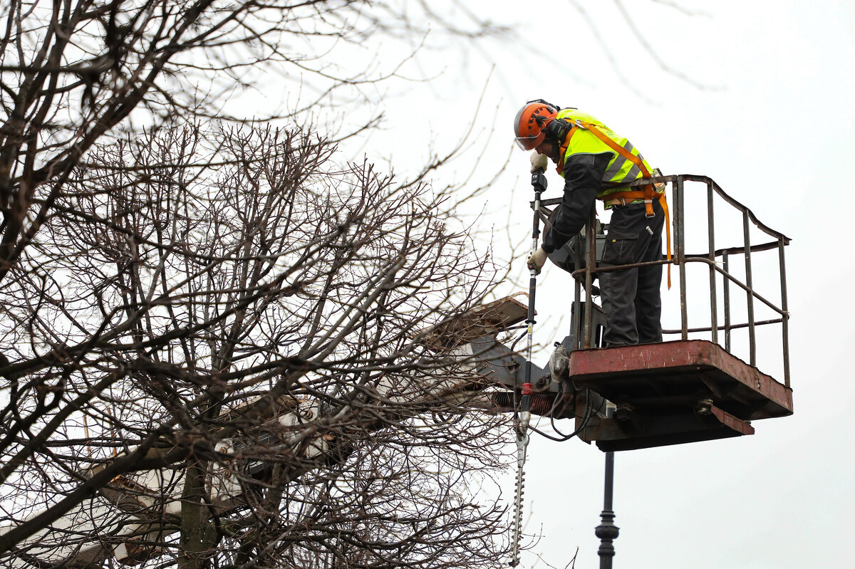
<path fill-rule="evenodd" d="M 543 235 L 543 250 L 547 253 L 567 243 L 587 223 L 611 156 L 610 152 L 572 155 L 564 164 L 564 196 L 557 216 Z"/>

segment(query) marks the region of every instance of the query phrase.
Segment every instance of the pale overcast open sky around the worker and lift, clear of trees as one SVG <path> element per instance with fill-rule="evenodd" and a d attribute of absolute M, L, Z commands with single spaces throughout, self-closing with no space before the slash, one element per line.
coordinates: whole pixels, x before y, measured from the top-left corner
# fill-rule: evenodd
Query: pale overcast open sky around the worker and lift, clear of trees
<path fill-rule="evenodd" d="M 508 155 L 519 106 L 543 97 L 594 114 L 664 173 L 716 179 L 765 224 L 792 238 L 787 277 L 795 414 L 755 421 L 752 437 L 617 454 L 621 535 L 615 567 L 845 566 L 855 505 L 855 436 L 847 420 L 855 402 L 855 265 L 852 221 L 838 212 L 851 209 L 855 4 L 677 2 L 702 12 L 687 15 L 664 2 L 623 3 L 657 56 L 685 78 L 663 71 L 612 2 L 468 3 L 496 21 L 516 22 L 540 55 L 492 42 L 459 61 L 437 57 L 444 74 L 429 85 L 406 87 L 405 101 L 387 103 L 395 118 L 372 149 L 380 143 L 398 149 L 388 154 L 405 167 L 427 152 L 433 136 L 440 146 L 451 144 L 448 137 L 460 132 L 486 84 L 476 118 L 485 130 L 476 133 L 475 145 L 490 159 L 479 172 Z M 598 26 L 616 67 L 574 4 Z M 437 71 L 422 65 L 426 73 Z M 469 164 L 458 167 L 464 172 Z M 559 195 L 557 174 L 550 174 L 550 183 L 547 197 Z M 531 197 L 522 151 L 513 153 L 509 175 L 481 200 L 488 212 L 483 220 L 507 225 L 511 197 L 518 223 L 512 231 L 522 243 Z M 524 262 L 516 264 L 523 283 Z M 569 306 L 569 281 L 557 267 L 547 267 L 539 279 L 535 336 L 541 343 L 566 332 L 568 319 L 551 314 L 551 307 Z M 508 293 L 516 290 L 508 285 Z M 534 360 L 545 365 L 548 356 L 544 350 Z M 577 545 L 576 566 L 598 566 L 593 528 L 602 509 L 604 455 L 578 440 L 534 437 L 528 456 L 526 527 L 542 537 L 523 555 L 523 566 L 563 567 Z M 512 485 L 506 491 L 510 498 Z"/>

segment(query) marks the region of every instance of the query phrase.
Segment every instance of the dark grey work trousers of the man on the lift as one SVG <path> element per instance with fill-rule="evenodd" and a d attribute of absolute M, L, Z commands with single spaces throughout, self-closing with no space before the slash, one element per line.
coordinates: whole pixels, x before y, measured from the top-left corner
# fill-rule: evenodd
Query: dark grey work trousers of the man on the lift
<path fill-rule="evenodd" d="M 662 259 L 662 228 L 665 216 L 653 202 L 653 217 L 646 217 L 643 203 L 612 208 L 600 267 L 614 267 Z M 648 230 L 649 228 L 649 230 Z M 606 347 L 662 342 L 662 265 L 599 273 L 605 313 Z"/>

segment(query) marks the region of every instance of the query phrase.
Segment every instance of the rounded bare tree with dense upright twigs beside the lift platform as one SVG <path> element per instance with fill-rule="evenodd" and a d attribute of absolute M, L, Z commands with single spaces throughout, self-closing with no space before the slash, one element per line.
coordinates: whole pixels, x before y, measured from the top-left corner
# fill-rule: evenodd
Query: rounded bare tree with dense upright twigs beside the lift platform
<path fill-rule="evenodd" d="M 187 126 L 70 174 L 3 289 L 3 484 L 44 508 L 8 506 L 7 555 L 72 515 L 52 562 L 492 564 L 500 508 L 460 472 L 498 467 L 503 431 L 446 396 L 472 373 L 420 332 L 494 275 L 447 195 L 332 153 Z"/>

